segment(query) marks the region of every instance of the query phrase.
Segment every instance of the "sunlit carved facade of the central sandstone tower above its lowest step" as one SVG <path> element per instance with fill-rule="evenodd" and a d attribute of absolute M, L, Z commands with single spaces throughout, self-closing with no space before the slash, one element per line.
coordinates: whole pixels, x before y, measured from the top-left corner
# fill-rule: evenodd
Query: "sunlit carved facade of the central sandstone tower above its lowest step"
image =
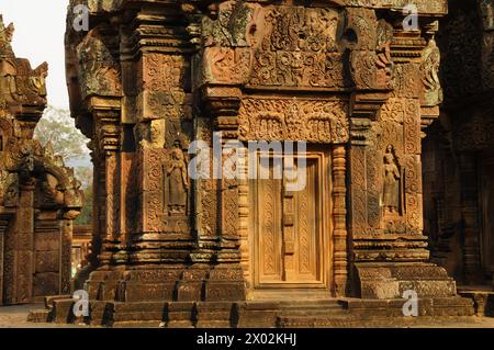
<path fill-rule="evenodd" d="M 69 14 L 71 111 L 92 139 L 96 169 L 94 271 L 86 283 L 94 305 L 166 302 L 168 326 L 192 325 L 178 314 L 193 313 L 193 303 L 217 320 L 226 316 L 209 303 L 231 308 L 280 284 L 363 300 L 400 298 L 412 287 L 460 305 L 454 281 L 427 262 L 422 204 L 422 138 L 444 100 L 435 36 L 447 1 L 416 1 L 413 31 L 403 25 L 406 3 L 124 0 L 103 11 L 91 1 L 87 33 L 74 31 Z M 187 171 L 276 140 L 306 143 L 307 159 L 325 155 L 313 169 L 327 168 L 311 180 L 327 190 L 321 200 L 311 187 L 308 203 L 280 183 Z M 198 156 L 197 142 L 213 151 Z M 233 171 L 249 167 L 244 160 Z M 252 205 L 262 191 L 267 200 Z M 321 230 L 307 221 L 317 215 Z M 307 242 L 293 237 L 308 226 L 323 233 L 324 278 L 289 281 L 303 270 L 290 263 L 304 264 Z M 272 257 L 259 258 L 259 235 L 276 247 Z M 259 279 L 259 261 L 285 267 L 278 285 Z"/>

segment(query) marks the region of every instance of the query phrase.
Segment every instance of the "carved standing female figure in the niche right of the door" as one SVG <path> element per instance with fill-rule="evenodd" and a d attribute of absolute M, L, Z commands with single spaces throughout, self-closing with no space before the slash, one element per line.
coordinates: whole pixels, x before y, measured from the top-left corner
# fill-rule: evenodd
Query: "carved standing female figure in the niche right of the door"
<path fill-rule="evenodd" d="M 384 155 L 384 189 L 383 205 L 384 212 L 397 214 L 400 208 L 400 181 L 401 174 L 394 156 L 393 146 L 388 146 Z"/>

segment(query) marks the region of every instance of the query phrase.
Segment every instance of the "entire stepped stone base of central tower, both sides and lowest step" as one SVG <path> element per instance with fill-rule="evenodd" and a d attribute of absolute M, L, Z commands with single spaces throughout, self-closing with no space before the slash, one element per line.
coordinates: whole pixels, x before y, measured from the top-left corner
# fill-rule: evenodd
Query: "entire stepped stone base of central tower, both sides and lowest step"
<path fill-rule="evenodd" d="M 31 319 L 109 327 L 269 328 L 396 327 L 420 317 L 463 317 L 473 302 L 457 295 L 456 283 L 431 263 L 357 264 L 360 298 L 245 301 L 242 273 L 225 268 L 96 271 L 87 282 L 90 316 L 76 319 L 72 298 L 46 303 L 49 313 Z M 417 293 L 418 317 L 404 317 L 405 291 Z"/>

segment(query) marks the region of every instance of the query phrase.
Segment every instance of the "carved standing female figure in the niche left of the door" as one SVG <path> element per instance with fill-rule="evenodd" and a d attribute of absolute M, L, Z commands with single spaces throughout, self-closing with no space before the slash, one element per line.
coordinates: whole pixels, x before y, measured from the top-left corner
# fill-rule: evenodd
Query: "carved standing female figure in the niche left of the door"
<path fill-rule="evenodd" d="M 175 148 L 171 151 L 171 159 L 167 167 L 169 200 L 168 205 L 170 213 L 186 214 L 187 210 L 187 191 L 190 187 L 189 177 L 187 174 L 187 162 L 183 151 Z"/>

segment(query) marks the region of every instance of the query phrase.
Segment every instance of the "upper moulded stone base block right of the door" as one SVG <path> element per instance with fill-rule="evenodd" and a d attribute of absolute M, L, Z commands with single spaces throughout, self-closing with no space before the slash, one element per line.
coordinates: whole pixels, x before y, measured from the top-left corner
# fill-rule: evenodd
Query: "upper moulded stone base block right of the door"
<path fill-rule="evenodd" d="M 356 263 L 357 296 L 364 300 L 401 300 L 406 291 L 418 298 L 457 296 L 453 279 L 433 263 Z"/>

